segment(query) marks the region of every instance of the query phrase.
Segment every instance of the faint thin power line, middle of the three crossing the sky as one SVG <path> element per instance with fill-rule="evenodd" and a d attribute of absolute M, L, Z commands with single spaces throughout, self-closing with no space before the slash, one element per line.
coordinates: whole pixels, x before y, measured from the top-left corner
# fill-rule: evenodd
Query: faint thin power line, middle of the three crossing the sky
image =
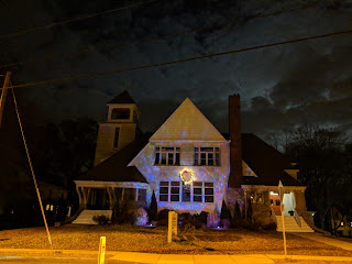
<path fill-rule="evenodd" d="M 340 1 L 343 1 L 343 0 L 340 0 Z M 310 9 L 310 8 L 326 7 L 326 6 L 333 4 L 333 3 L 334 3 L 334 1 L 332 1 L 332 2 L 330 1 L 330 2 L 326 2 L 326 3 L 319 3 L 319 4 L 308 4 L 308 6 L 305 6 L 305 7 L 301 7 L 301 8 L 297 8 L 297 9 L 290 9 L 290 10 L 284 10 L 284 11 L 275 11 L 275 12 L 271 12 L 271 13 L 266 13 L 266 14 L 257 14 L 257 15 L 253 15 L 253 16 L 246 18 L 245 21 L 254 20 L 254 19 L 258 19 L 258 18 L 267 18 L 267 16 L 278 15 L 278 14 L 283 14 L 283 13 L 296 12 L 296 11 L 299 11 L 299 10 L 305 10 L 305 9 Z M 230 22 L 227 22 L 227 23 L 220 23 L 220 24 L 219 23 L 213 23 L 213 24 L 211 24 L 209 26 L 194 28 L 194 29 L 190 29 L 188 31 L 179 31 L 179 32 L 174 32 L 174 33 L 161 35 L 161 36 L 142 37 L 142 38 L 134 40 L 134 41 L 128 41 L 128 42 L 113 44 L 113 45 L 110 46 L 110 48 L 127 46 L 127 45 L 131 45 L 131 44 L 148 43 L 148 42 L 152 42 L 152 41 L 157 41 L 157 40 L 166 38 L 166 37 L 169 37 L 169 36 L 178 36 L 178 35 L 183 35 L 183 34 L 195 33 L 195 32 L 200 32 L 200 31 L 206 31 L 206 30 L 223 29 L 223 28 L 226 28 L 228 25 L 231 25 L 231 24 L 233 24 L 235 22 L 238 22 L 238 21 L 231 20 Z M 72 52 L 72 53 L 65 53 L 65 54 L 53 54 L 53 55 L 48 55 L 48 56 L 44 56 L 44 57 L 40 57 L 40 58 L 30 58 L 30 59 L 22 61 L 22 62 L 0 65 L 0 68 L 14 67 L 16 65 L 26 64 L 26 63 L 43 62 L 43 61 L 46 61 L 46 59 L 52 59 L 52 58 L 62 57 L 62 56 L 73 56 L 73 55 L 84 54 L 84 53 L 87 53 L 89 51 L 91 51 L 91 48 L 87 47 L 87 48 L 80 50 L 78 52 Z"/>

